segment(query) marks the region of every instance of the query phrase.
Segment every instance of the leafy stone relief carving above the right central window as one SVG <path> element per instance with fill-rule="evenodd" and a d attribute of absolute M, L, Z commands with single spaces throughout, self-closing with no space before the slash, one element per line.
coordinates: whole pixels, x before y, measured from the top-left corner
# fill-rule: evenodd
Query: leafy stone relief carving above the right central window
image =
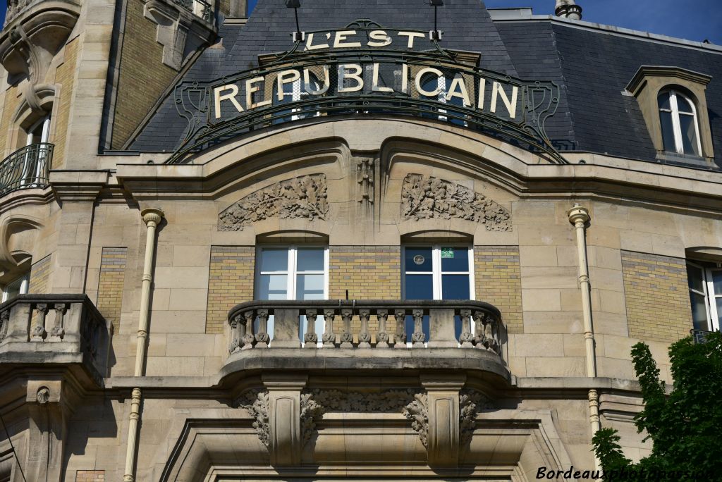
<path fill-rule="evenodd" d="M 510 231 L 511 214 L 499 204 L 463 185 L 409 174 L 401 190 L 404 219 L 461 218 L 486 225 L 487 231 Z"/>

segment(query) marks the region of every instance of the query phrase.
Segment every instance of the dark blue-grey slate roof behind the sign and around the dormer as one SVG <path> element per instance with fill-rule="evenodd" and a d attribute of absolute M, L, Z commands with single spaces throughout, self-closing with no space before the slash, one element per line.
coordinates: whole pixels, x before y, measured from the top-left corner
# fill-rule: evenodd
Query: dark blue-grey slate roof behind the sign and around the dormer
<path fill-rule="evenodd" d="M 360 18 L 380 25 L 430 30 L 433 15 L 422 0 L 306 0 L 302 30 L 334 30 Z M 707 89 L 716 163 L 722 167 L 722 54 L 658 40 L 580 28 L 547 17 L 493 22 L 481 0 L 447 0 L 438 10 L 445 48 L 482 54 L 484 69 L 523 79 L 552 80 L 562 87 L 547 133 L 560 150 L 608 153 L 654 160 L 655 150 L 634 97 L 622 95 L 642 65 L 678 66 L 713 77 Z M 258 55 L 290 47 L 292 9 L 282 0 L 259 0 L 248 23 L 220 28 L 223 48 L 209 48 L 184 77 L 209 81 L 257 65 Z M 172 152 L 186 121 L 172 99 L 132 142 L 142 152 Z"/>

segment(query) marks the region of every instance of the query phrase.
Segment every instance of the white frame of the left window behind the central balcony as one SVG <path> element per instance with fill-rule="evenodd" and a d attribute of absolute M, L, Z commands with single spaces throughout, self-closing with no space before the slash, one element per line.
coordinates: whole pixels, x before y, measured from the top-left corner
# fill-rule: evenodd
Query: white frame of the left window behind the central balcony
<path fill-rule="evenodd" d="M 323 249 L 323 273 L 321 271 L 298 271 L 297 260 L 298 251 L 305 248 L 322 248 Z M 261 251 L 264 249 L 286 249 L 288 251 L 288 263 L 286 271 L 261 271 Z M 262 245 L 256 247 L 256 267 L 253 276 L 253 297 L 256 298 L 258 293 L 261 291 L 259 288 L 259 282 L 261 281 L 261 275 L 264 274 L 285 274 L 286 275 L 286 299 L 289 301 L 297 300 L 297 283 L 296 277 L 299 274 L 323 274 L 323 298 L 329 299 L 329 246 L 328 245 Z M 300 333 L 306 331 L 306 319 L 305 316 L 299 320 Z M 321 315 L 316 318 L 316 333 L 318 333 L 318 346 L 322 346 L 321 334 L 326 329 L 325 320 Z M 268 320 L 268 333 L 271 337 L 271 343 L 273 343 L 274 334 L 274 320 L 273 317 L 269 317 Z M 303 338 L 301 341 L 303 346 Z"/>

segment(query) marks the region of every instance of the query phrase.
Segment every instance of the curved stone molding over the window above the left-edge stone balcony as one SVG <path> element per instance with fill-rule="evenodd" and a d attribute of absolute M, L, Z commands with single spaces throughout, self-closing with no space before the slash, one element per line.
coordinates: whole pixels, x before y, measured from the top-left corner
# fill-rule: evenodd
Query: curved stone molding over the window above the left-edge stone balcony
<path fill-rule="evenodd" d="M 29 263 L 43 222 L 32 216 L 13 214 L 0 224 L 0 275 L 12 277 L 22 264 Z"/>

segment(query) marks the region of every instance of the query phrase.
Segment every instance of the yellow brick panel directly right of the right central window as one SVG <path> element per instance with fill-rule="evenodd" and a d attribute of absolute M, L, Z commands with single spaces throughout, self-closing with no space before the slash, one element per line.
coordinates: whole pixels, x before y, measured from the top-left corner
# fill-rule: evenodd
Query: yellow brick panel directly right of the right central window
<path fill-rule="evenodd" d="M 477 299 L 501 311 L 509 333 L 524 333 L 518 246 L 475 246 Z"/>

